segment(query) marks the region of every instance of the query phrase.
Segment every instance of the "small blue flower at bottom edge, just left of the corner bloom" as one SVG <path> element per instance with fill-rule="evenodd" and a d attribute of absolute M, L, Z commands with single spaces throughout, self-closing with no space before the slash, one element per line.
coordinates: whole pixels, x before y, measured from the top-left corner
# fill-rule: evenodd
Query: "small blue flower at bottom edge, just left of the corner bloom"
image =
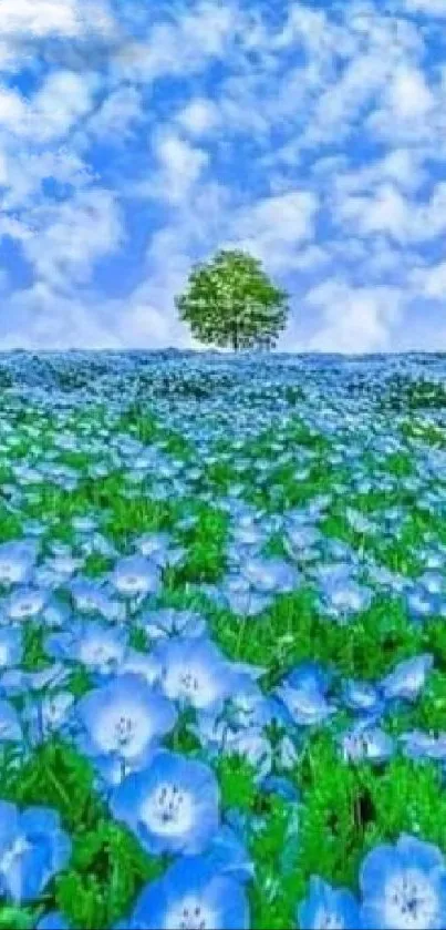
<path fill-rule="evenodd" d="M 361 930 L 362 926 L 352 892 L 332 888 L 319 876 L 310 878 L 309 896 L 298 907 L 298 922 L 300 930 Z"/>

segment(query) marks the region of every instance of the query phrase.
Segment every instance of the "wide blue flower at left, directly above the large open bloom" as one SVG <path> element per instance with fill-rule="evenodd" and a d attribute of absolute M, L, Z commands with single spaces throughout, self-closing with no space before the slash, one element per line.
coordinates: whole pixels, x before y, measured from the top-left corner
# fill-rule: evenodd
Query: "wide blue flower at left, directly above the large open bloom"
<path fill-rule="evenodd" d="M 49 636 L 45 652 L 65 662 L 79 662 L 91 672 L 107 675 L 123 662 L 127 648 L 125 627 L 105 626 L 100 621 L 72 621 Z"/>

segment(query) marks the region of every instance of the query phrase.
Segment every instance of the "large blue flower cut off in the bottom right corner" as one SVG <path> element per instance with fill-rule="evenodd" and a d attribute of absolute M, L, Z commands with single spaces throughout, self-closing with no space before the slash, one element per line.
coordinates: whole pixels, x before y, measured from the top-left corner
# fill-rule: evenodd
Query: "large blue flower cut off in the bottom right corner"
<path fill-rule="evenodd" d="M 443 930 L 446 867 L 440 850 L 403 834 L 365 857 L 360 871 L 366 930 Z"/>

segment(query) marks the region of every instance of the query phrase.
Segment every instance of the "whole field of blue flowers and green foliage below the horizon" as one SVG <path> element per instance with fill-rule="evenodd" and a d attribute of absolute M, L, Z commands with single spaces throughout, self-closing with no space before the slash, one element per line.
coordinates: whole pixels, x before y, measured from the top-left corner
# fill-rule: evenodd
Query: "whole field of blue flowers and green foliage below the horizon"
<path fill-rule="evenodd" d="M 0 930 L 446 927 L 446 359 L 0 360 Z"/>

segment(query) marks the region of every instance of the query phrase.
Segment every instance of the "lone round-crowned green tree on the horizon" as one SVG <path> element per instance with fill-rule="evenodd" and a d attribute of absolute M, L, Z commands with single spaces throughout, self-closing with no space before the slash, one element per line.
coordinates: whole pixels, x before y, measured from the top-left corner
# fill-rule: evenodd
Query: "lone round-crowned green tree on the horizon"
<path fill-rule="evenodd" d="M 274 287 L 257 258 L 220 249 L 208 264 L 194 265 L 175 306 L 201 343 L 238 351 L 276 345 L 287 323 L 287 293 Z"/>

